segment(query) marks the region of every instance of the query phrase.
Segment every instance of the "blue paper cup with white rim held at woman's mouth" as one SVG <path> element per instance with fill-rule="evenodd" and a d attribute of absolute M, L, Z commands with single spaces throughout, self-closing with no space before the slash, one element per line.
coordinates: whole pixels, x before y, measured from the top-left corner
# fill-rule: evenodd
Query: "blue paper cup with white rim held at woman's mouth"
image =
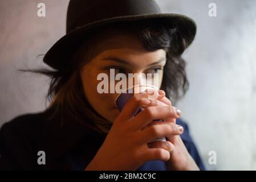
<path fill-rule="evenodd" d="M 119 96 L 116 97 L 116 106 L 119 109 L 119 111 L 123 110 L 125 104 L 127 104 L 127 102 L 129 101 L 130 98 L 132 98 L 133 96 L 135 96 L 136 94 L 139 93 L 143 93 L 146 92 L 146 89 L 154 89 L 154 90 L 158 90 L 156 88 L 156 86 L 153 85 L 135 85 L 132 86 L 131 88 L 128 88 L 126 90 L 124 90 L 122 93 L 119 94 Z M 156 99 L 154 98 L 155 96 L 149 96 L 148 99 Z M 144 108 L 140 107 L 136 112 L 135 115 L 136 116 L 138 113 L 140 113 L 140 111 L 142 111 Z M 159 121 L 162 122 L 162 119 L 155 119 L 153 121 Z M 165 137 L 160 137 L 160 138 L 156 138 L 151 140 L 150 142 L 155 142 L 155 141 L 162 141 L 165 142 L 166 138 Z M 149 143 L 149 142 L 148 142 Z"/>

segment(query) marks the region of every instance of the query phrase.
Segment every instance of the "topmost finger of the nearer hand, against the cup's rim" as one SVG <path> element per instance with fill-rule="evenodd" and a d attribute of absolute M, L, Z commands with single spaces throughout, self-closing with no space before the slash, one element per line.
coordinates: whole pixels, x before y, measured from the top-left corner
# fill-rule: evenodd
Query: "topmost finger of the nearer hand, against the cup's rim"
<path fill-rule="evenodd" d="M 136 94 L 132 98 L 129 99 L 127 104 L 125 104 L 123 110 L 120 112 L 120 114 L 117 116 L 120 120 L 128 120 L 136 113 L 136 111 L 139 109 L 139 102 L 141 98 L 147 98 L 148 93 L 141 93 Z"/>

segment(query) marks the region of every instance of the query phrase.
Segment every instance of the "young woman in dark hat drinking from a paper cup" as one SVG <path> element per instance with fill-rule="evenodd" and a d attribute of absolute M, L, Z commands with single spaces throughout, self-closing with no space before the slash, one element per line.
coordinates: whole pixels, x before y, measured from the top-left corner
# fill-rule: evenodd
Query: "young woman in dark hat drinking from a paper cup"
<path fill-rule="evenodd" d="M 118 8 L 117 8 L 118 7 Z M 193 20 L 161 14 L 150 0 L 70 1 L 67 35 L 44 56 L 55 70 L 50 106 L 0 131 L 3 169 L 198 170 L 197 148 L 173 105 L 188 89 L 184 50 Z M 136 94 L 120 112 L 118 93 L 99 93 L 97 76 L 158 73 L 159 91 Z M 155 94 L 155 100 L 148 97 Z M 145 109 L 137 114 L 139 107 Z M 156 122 L 154 119 L 164 119 Z M 166 141 L 149 142 L 166 137 Z"/>

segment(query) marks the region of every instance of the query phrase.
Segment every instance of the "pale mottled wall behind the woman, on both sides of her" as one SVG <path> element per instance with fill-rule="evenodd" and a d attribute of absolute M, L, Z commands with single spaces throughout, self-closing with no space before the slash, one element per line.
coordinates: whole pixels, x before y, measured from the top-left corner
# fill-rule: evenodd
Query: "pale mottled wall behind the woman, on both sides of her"
<path fill-rule="evenodd" d="M 37 5 L 46 4 L 46 17 Z M 198 32 L 184 53 L 190 89 L 178 104 L 208 169 L 256 169 L 256 1 L 159 0 L 163 12 L 182 13 Z M 209 3 L 217 16 L 208 15 Z M 65 33 L 67 0 L 0 0 L 0 126 L 45 108 L 48 80 L 18 73 L 42 64 Z M 208 164 L 216 151 L 217 164 Z"/>

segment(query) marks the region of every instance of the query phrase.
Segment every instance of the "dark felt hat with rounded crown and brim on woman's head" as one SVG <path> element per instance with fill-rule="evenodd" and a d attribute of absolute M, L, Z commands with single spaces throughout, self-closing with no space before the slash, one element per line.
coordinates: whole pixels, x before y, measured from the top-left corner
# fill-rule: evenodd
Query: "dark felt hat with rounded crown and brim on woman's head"
<path fill-rule="evenodd" d="M 161 13 L 155 0 L 71 0 L 67 11 L 67 34 L 43 58 L 50 67 L 62 70 L 83 38 L 109 23 L 143 19 L 165 19 L 178 28 L 189 45 L 196 35 L 196 23 L 182 14 Z M 104 29 L 103 29 L 104 30 Z"/>

